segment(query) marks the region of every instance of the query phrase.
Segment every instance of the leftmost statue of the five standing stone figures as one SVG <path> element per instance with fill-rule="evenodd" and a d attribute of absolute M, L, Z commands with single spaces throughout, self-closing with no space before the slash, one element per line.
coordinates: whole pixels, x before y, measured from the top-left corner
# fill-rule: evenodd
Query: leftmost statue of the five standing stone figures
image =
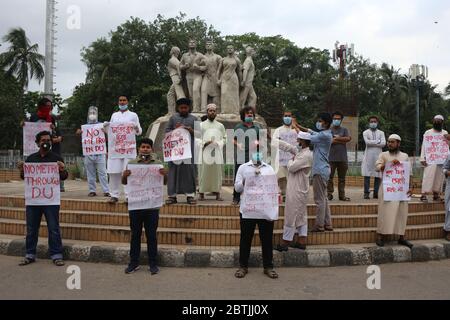
<path fill-rule="evenodd" d="M 169 89 L 169 92 L 167 93 L 167 106 L 170 114 L 175 113 L 177 100 L 186 98 L 181 78 L 180 60 L 178 60 L 180 53 L 180 48 L 173 47 L 170 50 L 170 59 L 169 63 L 167 64 L 167 70 L 169 72 L 170 78 L 172 79 L 172 85 Z"/>

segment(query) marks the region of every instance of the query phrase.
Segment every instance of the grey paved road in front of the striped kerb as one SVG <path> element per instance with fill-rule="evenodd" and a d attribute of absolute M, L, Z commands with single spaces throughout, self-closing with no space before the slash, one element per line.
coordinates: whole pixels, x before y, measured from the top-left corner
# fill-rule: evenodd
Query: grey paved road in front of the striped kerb
<path fill-rule="evenodd" d="M 123 266 L 68 262 L 81 269 L 81 290 L 68 290 L 66 267 L 49 260 L 19 268 L 19 258 L 0 256 L 0 299 L 450 299 L 450 260 L 381 266 L 381 290 L 369 290 L 366 267 L 278 269 L 271 280 L 251 269 L 163 268 L 125 275 Z"/>

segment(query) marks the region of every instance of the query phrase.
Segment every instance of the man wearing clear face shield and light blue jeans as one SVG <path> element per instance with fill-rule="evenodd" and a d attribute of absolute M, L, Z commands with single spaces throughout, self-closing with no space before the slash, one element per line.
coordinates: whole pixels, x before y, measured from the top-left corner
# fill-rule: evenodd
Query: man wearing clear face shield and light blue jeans
<path fill-rule="evenodd" d="M 98 124 L 98 109 L 96 107 L 89 107 L 87 124 Z M 76 132 L 77 135 L 81 135 L 81 129 Z M 106 155 L 89 155 L 84 157 L 84 168 L 86 170 L 88 185 L 89 185 L 89 197 L 97 196 L 97 174 L 100 185 L 102 186 L 103 195 L 110 197 L 108 176 L 106 174 Z"/>

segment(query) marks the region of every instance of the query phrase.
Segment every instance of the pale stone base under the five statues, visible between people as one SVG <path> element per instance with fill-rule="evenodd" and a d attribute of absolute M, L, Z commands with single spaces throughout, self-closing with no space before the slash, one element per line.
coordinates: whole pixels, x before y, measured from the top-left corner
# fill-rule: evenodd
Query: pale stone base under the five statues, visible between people
<path fill-rule="evenodd" d="M 205 114 L 193 113 L 193 115 L 200 121 L 200 118 Z M 147 133 L 145 134 L 145 137 L 153 140 L 153 149 L 156 153 L 162 153 L 162 141 L 170 117 L 171 115 L 167 114 L 164 117 L 158 118 L 149 126 Z M 242 122 L 241 117 L 237 114 L 218 114 L 216 120 L 222 123 L 225 126 L 225 129 L 234 129 L 237 124 Z M 263 129 L 267 129 L 267 123 L 263 117 L 257 115 L 255 123 L 259 124 Z"/>

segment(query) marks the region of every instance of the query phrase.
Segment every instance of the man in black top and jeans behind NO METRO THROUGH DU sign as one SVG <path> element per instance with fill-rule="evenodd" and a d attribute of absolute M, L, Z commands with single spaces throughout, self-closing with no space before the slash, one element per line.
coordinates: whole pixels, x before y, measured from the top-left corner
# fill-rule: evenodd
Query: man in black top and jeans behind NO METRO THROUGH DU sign
<path fill-rule="evenodd" d="M 49 163 L 55 162 L 59 166 L 59 178 L 66 180 L 68 172 L 64 166 L 64 160 L 58 154 L 51 151 L 52 140 L 51 133 L 42 131 L 36 135 L 36 144 L 39 151 L 30 155 L 26 163 Z M 20 177 L 24 179 L 24 162 L 18 164 Z M 63 246 L 61 240 L 61 232 L 59 228 L 59 208 L 60 206 L 26 206 L 26 255 L 24 260 L 19 264 L 26 266 L 36 262 L 36 247 L 38 244 L 39 227 L 41 224 L 42 214 L 45 215 L 48 229 L 48 243 L 51 259 L 56 266 L 64 266 Z"/>

